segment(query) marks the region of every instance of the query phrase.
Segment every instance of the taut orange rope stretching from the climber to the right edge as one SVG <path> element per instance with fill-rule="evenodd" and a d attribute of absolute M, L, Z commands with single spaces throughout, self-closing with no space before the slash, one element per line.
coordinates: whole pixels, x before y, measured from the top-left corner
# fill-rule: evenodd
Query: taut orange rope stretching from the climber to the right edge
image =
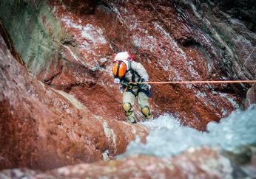
<path fill-rule="evenodd" d="M 175 81 L 175 82 L 142 82 L 148 84 L 177 84 L 177 83 L 256 83 L 256 80 L 230 80 L 230 81 Z M 130 83 L 140 84 L 140 83 Z"/>

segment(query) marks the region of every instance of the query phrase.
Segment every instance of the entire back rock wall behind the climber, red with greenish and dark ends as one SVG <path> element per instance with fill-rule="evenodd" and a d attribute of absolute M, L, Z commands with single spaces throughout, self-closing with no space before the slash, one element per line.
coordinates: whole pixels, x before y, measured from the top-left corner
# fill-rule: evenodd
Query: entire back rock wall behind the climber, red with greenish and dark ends
<path fill-rule="evenodd" d="M 239 19 L 218 9 L 222 4 L 215 8 L 219 15 L 209 12 L 210 1 L 35 1 L 26 5 L 4 1 L 1 8 L 12 3 L 23 13 L 37 12 L 20 15 L 23 19 L 18 21 L 38 19 L 30 24 L 36 23 L 47 37 L 43 40 L 46 46 L 53 47 L 46 51 L 42 42 L 28 38 L 40 52 L 24 52 L 18 48 L 23 46 L 18 41 L 21 36 L 13 30 L 24 27 L 5 23 L 16 39 L 16 48 L 27 59 L 28 69 L 47 85 L 73 94 L 98 116 L 125 119 L 118 86 L 112 82 L 115 52 L 129 50 L 137 55 L 152 81 L 252 80 L 255 75 L 255 35 Z M 224 28 L 227 24 L 229 29 Z M 232 34 L 239 37 L 231 38 Z M 247 88 L 249 85 L 153 85 L 151 104 L 155 116 L 172 113 L 183 124 L 205 130 L 208 122 L 238 108 Z M 136 113 L 143 118 L 140 111 Z"/>

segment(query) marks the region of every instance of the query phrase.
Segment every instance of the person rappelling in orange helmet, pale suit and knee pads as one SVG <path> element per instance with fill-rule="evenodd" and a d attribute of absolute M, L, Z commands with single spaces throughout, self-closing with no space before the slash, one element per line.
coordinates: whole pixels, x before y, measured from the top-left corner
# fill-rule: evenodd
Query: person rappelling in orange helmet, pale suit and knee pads
<path fill-rule="evenodd" d="M 147 121 L 152 121 L 152 111 L 149 108 L 149 97 L 151 97 L 150 85 L 146 82 L 149 75 L 141 63 L 135 62 L 135 55 L 129 52 L 120 52 L 113 60 L 112 73 L 115 83 L 121 85 L 123 95 L 123 109 L 127 122 L 136 123 L 137 118 L 133 106 L 138 99 L 138 106 Z M 132 84 L 133 83 L 133 84 Z"/>

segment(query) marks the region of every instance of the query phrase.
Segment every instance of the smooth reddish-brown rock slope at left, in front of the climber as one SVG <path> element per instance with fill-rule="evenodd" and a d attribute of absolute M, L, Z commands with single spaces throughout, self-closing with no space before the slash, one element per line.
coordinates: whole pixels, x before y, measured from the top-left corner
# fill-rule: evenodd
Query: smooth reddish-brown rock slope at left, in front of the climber
<path fill-rule="evenodd" d="M 36 80 L 0 36 L 0 169 L 53 169 L 112 158 L 126 150 L 141 124 L 101 119 L 73 96 Z"/>

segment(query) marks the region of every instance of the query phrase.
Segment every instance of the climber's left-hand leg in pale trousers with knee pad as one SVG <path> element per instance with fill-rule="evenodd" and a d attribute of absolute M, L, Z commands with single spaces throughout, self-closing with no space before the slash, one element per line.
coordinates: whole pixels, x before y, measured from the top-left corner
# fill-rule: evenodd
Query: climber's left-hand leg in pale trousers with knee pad
<path fill-rule="evenodd" d="M 123 108 L 125 116 L 127 116 L 127 122 L 136 123 L 136 116 L 133 110 L 135 102 L 135 95 L 130 91 L 126 91 L 123 96 Z"/>

